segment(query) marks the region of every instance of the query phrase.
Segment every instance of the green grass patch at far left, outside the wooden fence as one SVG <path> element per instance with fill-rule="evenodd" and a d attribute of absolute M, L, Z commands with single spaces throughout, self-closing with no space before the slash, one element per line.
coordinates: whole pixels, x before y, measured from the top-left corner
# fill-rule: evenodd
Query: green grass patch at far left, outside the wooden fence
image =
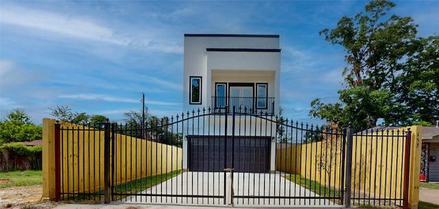
<path fill-rule="evenodd" d="M 0 188 L 40 185 L 43 184 L 43 171 L 1 171 L 0 180 Z"/>

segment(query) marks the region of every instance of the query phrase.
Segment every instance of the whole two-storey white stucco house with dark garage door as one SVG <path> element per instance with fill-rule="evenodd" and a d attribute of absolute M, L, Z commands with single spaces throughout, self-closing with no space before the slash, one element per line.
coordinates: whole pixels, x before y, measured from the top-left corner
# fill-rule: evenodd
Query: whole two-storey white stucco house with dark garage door
<path fill-rule="evenodd" d="M 223 145 L 217 141 L 233 136 L 235 147 L 241 147 L 241 152 L 236 151 L 238 157 L 234 158 L 235 169 L 258 163 L 253 169 L 239 170 L 274 171 L 276 142 L 272 138 L 276 134 L 275 124 L 267 122 L 264 117 L 250 116 L 231 121 L 232 117 L 227 115 L 233 114 L 233 107 L 235 112 L 259 114 L 265 118 L 277 114 L 280 71 L 278 35 L 185 34 L 183 108 L 185 111 L 210 108 L 215 116 L 202 122 L 202 133 L 198 122 L 195 125 L 197 131 L 185 136 L 183 169 L 221 171 L 222 167 L 206 169 L 195 164 L 210 167 L 207 165 L 209 161 L 221 162 L 222 157 L 216 158 L 215 155 L 222 155 L 219 147 Z M 234 124 L 235 128 L 230 124 Z M 205 131 L 206 127 L 209 127 L 209 134 Z M 206 143 L 206 138 L 210 143 Z M 220 153 L 215 153 L 216 149 Z M 200 155 L 199 150 L 204 151 L 201 153 L 204 158 L 195 157 Z M 242 150 L 258 154 L 246 158 Z"/>

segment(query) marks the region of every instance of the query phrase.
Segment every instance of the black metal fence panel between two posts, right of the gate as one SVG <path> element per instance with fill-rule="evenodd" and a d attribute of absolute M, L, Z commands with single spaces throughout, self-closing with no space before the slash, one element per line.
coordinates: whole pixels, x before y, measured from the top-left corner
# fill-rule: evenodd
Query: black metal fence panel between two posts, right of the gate
<path fill-rule="evenodd" d="M 394 128 L 353 134 L 353 204 L 403 205 L 407 140 L 410 138 L 407 139 L 405 130 Z"/>

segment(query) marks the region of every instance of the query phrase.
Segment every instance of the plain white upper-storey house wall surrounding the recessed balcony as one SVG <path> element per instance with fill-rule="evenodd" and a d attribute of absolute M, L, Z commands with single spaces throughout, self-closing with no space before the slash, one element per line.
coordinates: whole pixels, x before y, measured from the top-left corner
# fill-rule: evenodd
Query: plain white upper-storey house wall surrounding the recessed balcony
<path fill-rule="evenodd" d="M 183 110 L 197 110 L 211 106 L 211 96 L 215 82 L 267 82 L 268 97 L 275 97 L 275 110 L 279 107 L 279 76 L 281 71 L 280 52 L 237 52 L 237 51 L 206 51 L 207 48 L 222 49 L 279 49 L 279 38 L 266 37 L 224 37 L 224 36 L 185 36 L 185 59 L 183 73 Z M 225 80 L 218 77 L 224 71 Z M 231 71 L 245 72 L 252 75 L 254 71 L 268 71 L 265 79 L 249 80 L 246 76 L 237 79 Z M 270 75 L 270 77 L 268 77 Z M 202 104 L 189 104 L 189 77 L 202 76 Z"/>

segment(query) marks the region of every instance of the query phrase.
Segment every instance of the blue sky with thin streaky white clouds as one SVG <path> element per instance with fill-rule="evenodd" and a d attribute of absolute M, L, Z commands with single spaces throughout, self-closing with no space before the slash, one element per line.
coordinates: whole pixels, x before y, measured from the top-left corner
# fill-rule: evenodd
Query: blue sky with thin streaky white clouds
<path fill-rule="evenodd" d="M 182 110 L 184 34 L 279 34 L 283 115 L 308 116 L 316 98 L 336 102 L 344 51 L 318 32 L 368 1 L 0 1 L 0 117 L 49 108 L 123 121 L 139 111 Z M 394 1 L 418 35 L 439 31 L 439 1 Z M 185 110 L 187 111 L 187 110 Z"/>

